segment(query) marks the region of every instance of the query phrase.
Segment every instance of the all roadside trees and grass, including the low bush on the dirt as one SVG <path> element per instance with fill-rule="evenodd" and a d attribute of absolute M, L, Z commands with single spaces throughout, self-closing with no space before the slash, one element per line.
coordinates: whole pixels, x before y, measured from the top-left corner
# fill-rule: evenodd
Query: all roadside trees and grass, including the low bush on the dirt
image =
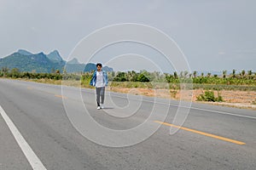
<path fill-rule="evenodd" d="M 53 70 L 51 73 L 20 72 L 18 69 L 4 67 L 0 70 L 0 77 L 22 79 L 34 82 L 44 82 L 53 84 L 64 84 L 67 86 L 92 88 L 89 85 L 93 71 L 79 73 L 61 73 L 59 70 Z M 176 98 L 178 91 L 183 88 L 183 84 L 189 84 L 190 89 L 201 89 L 201 94 L 196 96 L 198 101 L 224 101 L 221 91 L 247 91 L 256 92 L 256 72 L 253 71 L 222 71 L 221 75 L 212 75 L 207 73 L 198 74 L 197 71 L 189 73 L 182 71 L 180 73 L 161 74 L 160 72 L 148 71 L 127 71 L 127 72 L 108 72 L 108 81 L 110 90 L 112 88 L 143 88 L 143 89 L 166 89 L 169 90 L 171 97 Z M 215 95 L 214 95 L 215 94 Z M 255 105 L 256 99 L 252 104 Z"/>

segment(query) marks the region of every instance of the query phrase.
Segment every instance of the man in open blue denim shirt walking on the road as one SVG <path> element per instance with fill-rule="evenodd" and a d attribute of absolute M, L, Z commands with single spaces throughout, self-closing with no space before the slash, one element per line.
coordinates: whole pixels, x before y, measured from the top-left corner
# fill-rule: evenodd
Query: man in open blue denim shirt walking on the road
<path fill-rule="evenodd" d="M 90 80 L 90 86 L 96 87 L 96 102 L 97 109 L 104 108 L 104 98 L 105 98 L 105 87 L 108 86 L 108 75 L 106 71 L 102 71 L 102 64 L 96 64 L 97 71 L 93 73 Z"/>

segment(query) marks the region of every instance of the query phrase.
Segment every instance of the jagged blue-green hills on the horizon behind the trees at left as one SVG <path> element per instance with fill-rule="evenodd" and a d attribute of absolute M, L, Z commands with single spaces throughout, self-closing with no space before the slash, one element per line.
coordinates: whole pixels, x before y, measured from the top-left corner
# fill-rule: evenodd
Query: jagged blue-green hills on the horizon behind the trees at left
<path fill-rule="evenodd" d="M 48 73 L 56 70 L 63 71 L 64 67 L 69 73 L 96 71 L 96 65 L 92 63 L 87 65 L 80 64 L 78 59 L 72 59 L 71 61 L 66 62 L 61 58 L 61 55 L 57 50 L 54 50 L 49 54 L 32 54 L 24 49 L 19 49 L 18 52 L 0 59 L 0 69 L 3 67 L 7 67 L 10 70 L 17 68 L 19 71 Z M 113 71 L 113 69 L 108 66 L 105 66 L 102 69 L 105 71 Z"/>

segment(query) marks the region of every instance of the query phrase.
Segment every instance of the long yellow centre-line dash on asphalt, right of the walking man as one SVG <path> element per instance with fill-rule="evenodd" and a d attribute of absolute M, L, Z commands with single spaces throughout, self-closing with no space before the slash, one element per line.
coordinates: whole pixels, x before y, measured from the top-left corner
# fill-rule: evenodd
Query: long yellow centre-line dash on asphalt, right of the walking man
<path fill-rule="evenodd" d="M 169 127 L 180 128 L 180 129 L 189 131 L 191 133 L 198 133 L 198 134 L 205 135 L 205 136 L 208 136 L 208 137 L 211 137 L 211 138 L 214 138 L 214 139 L 224 140 L 224 141 L 231 142 L 231 143 L 234 143 L 234 144 L 246 144 L 246 143 L 238 141 L 238 140 L 224 138 L 222 136 L 218 136 L 218 135 L 211 134 L 211 133 L 204 133 L 204 132 L 201 132 L 201 131 L 198 131 L 198 130 L 194 130 L 194 129 L 191 129 L 191 128 L 187 128 L 187 127 L 180 127 L 180 126 L 173 125 L 173 124 L 170 124 L 170 123 L 167 123 L 167 122 L 160 122 L 160 121 L 154 121 L 154 122 L 158 122 L 160 124 L 163 124 L 163 125 L 166 125 L 166 126 L 169 126 Z"/>

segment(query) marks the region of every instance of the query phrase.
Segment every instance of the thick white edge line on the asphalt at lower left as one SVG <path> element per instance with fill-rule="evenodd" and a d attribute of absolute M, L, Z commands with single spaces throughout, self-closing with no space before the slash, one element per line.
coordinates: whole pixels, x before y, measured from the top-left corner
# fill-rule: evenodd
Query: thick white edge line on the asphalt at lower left
<path fill-rule="evenodd" d="M 26 143 L 26 140 L 22 137 L 18 128 L 15 127 L 15 124 L 11 121 L 9 116 L 7 116 L 5 111 L 3 111 L 3 108 L 1 105 L 0 105 L 0 113 L 1 113 L 1 116 L 3 116 L 3 120 L 6 122 L 7 126 L 9 127 L 9 130 L 11 131 L 11 133 L 13 133 L 17 143 L 20 146 L 20 149 L 23 151 L 24 155 L 26 156 L 27 161 L 32 166 L 32 169 L 46 170 L 42 161 L 39 160 L 38 156 L 34 153 L 34 151 L 29 146 L 29 144 Z"/>

